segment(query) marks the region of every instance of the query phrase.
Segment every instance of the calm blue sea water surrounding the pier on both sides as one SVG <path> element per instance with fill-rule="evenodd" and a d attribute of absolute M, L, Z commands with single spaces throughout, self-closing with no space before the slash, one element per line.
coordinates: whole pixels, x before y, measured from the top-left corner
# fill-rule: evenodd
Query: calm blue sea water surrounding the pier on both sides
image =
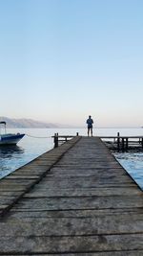
<path fill-rule="evenodd" d="M 40 154 L 53 148 L 55 132 L 59 135 L 87 135 L 87 128 L 14 128 L 9 133 L 25 133 L 17 146 L 0 147 L 0 178 L 9 175 L 15 169 L 29 163 Z M 93 135 L 115 136 L 143 135 L 143 128 L 93 128 Z M 115 152 L 116 159 L 132 175 L 135 182 L 143 189 L 143 151 Z"/>

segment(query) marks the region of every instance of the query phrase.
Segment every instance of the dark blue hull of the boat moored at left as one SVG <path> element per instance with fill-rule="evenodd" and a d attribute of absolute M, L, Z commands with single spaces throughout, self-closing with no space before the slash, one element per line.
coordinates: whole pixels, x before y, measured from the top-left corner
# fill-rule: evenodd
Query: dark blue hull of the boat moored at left
<path fill-rule="evenodd" d="M 25 134 L 4 134 L 0 136 L 0 146 L 16 145 Z"/>

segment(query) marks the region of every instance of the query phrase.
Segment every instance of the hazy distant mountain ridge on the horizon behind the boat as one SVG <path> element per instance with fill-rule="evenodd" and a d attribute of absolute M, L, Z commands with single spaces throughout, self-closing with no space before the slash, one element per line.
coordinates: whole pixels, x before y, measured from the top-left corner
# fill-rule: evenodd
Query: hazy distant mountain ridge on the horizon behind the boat
<path fill-rule="evenodd" d="M 5 121 L 7 128 L 58 128 L 57 125 L 51 123 L 44 123 L 32 119 L 13 119 L 5 116 L 0 117 L 0 122 Z"/>

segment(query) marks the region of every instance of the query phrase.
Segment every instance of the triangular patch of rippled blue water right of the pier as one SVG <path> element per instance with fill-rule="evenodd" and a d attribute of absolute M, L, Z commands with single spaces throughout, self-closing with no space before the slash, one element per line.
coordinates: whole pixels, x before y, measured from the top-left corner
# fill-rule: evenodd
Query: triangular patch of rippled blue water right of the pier
<path fill-rule="evenodd" d="M 143 190 L 143 152 L 116 152 L 114 156 Z"/>

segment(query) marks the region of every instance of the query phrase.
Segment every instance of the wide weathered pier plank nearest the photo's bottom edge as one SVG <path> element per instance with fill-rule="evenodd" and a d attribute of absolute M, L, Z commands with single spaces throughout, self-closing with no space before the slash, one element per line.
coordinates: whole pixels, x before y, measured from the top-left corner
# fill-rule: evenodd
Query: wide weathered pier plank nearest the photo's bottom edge
<path fill-rule="evenodd" d="M 143 234 L 82 237 L 2 237 L 1 253 L 70 253 L 143 250 Z"/>

